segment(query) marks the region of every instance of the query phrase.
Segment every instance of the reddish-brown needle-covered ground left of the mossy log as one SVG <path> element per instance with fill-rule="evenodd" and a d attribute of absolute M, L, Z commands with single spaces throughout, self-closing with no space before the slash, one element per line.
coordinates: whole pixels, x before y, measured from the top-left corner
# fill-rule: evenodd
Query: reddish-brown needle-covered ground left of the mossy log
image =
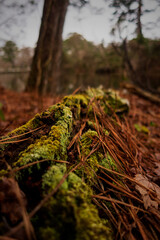
<path fill-rule="evenodd" d="M 62 97 L 43 97 L 35 94 L 17 93 L 0 87 L 0 103 L 5 120 L 0 119 L 0 135 L 25 124 L 38 112 L 60 101 Z"/>

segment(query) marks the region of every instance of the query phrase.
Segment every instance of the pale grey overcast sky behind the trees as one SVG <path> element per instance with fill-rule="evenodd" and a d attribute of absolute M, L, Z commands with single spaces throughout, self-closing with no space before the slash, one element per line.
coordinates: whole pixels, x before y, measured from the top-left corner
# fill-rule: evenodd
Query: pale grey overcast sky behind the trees
<path fill-rule="evenodd" d="M 144 0 L 143 2 L 149 9 L 155 7 L 154 0 Z M 114 37 L 110 35 L 110 29 L 112 26 L 110 19 L 112 17 L 113 9 L 107 7 L 107 4 L 103 0 L 91 0 L 91 4 L 92 7 L 100 9 L 100 14 L 95 14 L 94 8 L 90 8 L 89 6 L 85 6 L 81 11 L 74 9 L 73 7 L 68 8 L 63 31 L 64 39 L 67 38 L 69 33 L 77 32 L 82 34 L 87 40 L 92 41 L 96 44 L 99 44 L 102 41 L 105 44 L 108 44 L 114 40 Z M 15 41 L 19 47 L 35 46 L 38 39 L 42 8 L 43 0 L 39 0 L 38 7 L 34 12 L 28 14 L 27 18 L 26 16 L 24 16 L 24 18 L 21 17 L 21 22 L 24 26 L 23 32 L 21 32 L 21 34 L 19 32 L 19 25 L 16 21 L 15 24 L 13 23 L 12 27 L 8 29 L 8 32 L 11 33 L 11 40 Z M 12 10 L 10 10 L 10 13 L 7 12 L 9 16 L 14 15 L 11 11 Z M 157 9 L 153 13 L 146 14 L 142 18 L 142 22 L 147 23 L 155 21 L 158 18 L 160 18 L 160 9 Z M 152 29 L 149 31 L 144 30 L 145 37 L 160 38 L 159 28 L 160 23 L 156 28 L 152 27 Z M 3 30 L 3 26 L 1 26 L 0 22 L 0 40 L 9 40 L 10 34 L 8 35 L 7 29 L 5 29 L 6 33 L 3 33 Z M 131 35 L 133 31 L 134 28 L 132 28 L 132 26 L 129 26 L 126 28 L 124 34 L 129 34 L 131 38 L 133 37 L 133 35 Z M 2 40 L 1 42 L 3 42 Z"/>

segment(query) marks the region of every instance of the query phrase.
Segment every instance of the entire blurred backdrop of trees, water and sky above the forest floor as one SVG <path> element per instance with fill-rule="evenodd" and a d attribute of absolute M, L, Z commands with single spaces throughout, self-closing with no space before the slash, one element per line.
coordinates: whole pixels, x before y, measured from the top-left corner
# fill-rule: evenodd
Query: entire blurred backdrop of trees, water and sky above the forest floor
<path fill-rule="evenodd" d="M 160 92 L 159 0 L 1 0 L 0 85 L 69 94 L 132 82 Z"/>

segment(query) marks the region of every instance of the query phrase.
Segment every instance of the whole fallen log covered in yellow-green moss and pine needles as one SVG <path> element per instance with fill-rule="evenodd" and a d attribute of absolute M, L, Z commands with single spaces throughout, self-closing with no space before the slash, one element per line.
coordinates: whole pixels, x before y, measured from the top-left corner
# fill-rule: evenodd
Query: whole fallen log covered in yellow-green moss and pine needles
<path fill-rule="evenodd" d="M 115 113 L 123 115 L 128 111 L 128 103 L 117 93 L 88 89 L 64 97 L 60 103 L 36 114 L 3 137 L 0 145 L 1 235 L 7 234 L 23 217 L 16 211 L 11 217 L 10 211 L 2 208 L 7 201 L 12 201 L 12 197 L 8 200 L 7 191 L 2 194 L 3 186 L 14 178 L 26 196 L 28 212 L 50 194 L 39 211 L 31 214 L 37 239 L 114 239 L 110 220 L 101 216 L 91 197 L 96 192 L 93 179 L 98 165 L 117 169 L 109 152 L 104 156 L 102 147 L 93 148 L 98 138 L 96 107 L 113 118 Z M 104 126 L 98 127 L 109 134 Z M 16 233 L 12 235 L 15 236 L 21 239 Z"/>

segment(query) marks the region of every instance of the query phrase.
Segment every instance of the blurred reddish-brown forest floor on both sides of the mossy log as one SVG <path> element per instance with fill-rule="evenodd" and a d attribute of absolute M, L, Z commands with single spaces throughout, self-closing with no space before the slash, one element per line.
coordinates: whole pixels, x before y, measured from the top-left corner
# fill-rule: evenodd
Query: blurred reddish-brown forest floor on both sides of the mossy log
<path fill-rule="evenodd" d="M 129 100 L 127 121 L 132 134 L 140 140 L 160 161 L 160 107 L 129 92 L 120 91 Z M 0 103 L 5 120 L 0 119 L 0 136 L 25 124 L 38 112 L 59 102 L 62 96 L 38 97 L 30 93 L 17 93 L 0 87 Z"/>

